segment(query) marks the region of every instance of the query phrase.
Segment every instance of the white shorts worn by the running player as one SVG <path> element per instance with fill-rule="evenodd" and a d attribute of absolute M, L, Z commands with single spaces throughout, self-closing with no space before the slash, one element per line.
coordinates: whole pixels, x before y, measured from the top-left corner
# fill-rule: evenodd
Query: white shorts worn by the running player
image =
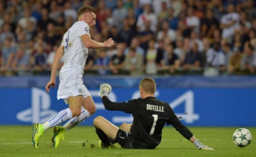
<path fill-rule="evenodd" d="M 63 99 L 68 104 L 68 97 L 78 95 L 83 95 L 84 98 L 91 95 L 83 84 L 83 74 L 72 70 L 61 72 L 57 99 Z"/>

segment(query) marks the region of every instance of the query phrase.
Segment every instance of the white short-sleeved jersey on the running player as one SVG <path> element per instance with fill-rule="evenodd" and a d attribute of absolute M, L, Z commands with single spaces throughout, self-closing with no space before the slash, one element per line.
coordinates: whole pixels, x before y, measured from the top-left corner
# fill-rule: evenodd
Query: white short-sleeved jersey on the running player
<path fill-rule="evenodd" d="M 84 73 L 88 49 L 84 47 L 81 36 L 89 34 L 89 31 L 89 25 L 86 22 L 78 21 L 64 34 L 61 43 L 64 46 L 64 65 L 60 72 L 75 70 Z"/>

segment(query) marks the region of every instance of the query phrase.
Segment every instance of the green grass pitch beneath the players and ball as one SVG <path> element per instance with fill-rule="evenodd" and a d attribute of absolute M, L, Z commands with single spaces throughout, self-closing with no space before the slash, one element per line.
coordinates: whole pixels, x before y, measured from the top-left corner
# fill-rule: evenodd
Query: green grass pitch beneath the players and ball
<path fill-rule="evenodd" d="M 92 126 L 78 126 L 69 131 L 60 147 L 51 147 L 49 129 L 35 149 L 31 142 L 31 126 L 0 126 L 0 157 L 256 157 L 256 142 L 240 148 L 232 142 L 238 128 L 188 127 L 200 142 L 214 151 L 197 150 L 172 127 L 165 127 L 162 142 L 153 150 L 101 149 Z M 256 135 L 256 128 L 246 128 Z"/>

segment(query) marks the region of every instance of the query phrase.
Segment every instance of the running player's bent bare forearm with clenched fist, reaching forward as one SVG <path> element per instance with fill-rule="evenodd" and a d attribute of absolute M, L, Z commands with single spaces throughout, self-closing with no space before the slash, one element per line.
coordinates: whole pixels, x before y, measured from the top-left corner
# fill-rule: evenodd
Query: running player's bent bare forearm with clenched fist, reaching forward
<path fill-rule="evenodd" d="M 92 40 L 90 34 L 82 35 L 81 39 L 84 43 L 84 46 L 88 49 L 108 48 L 115 45 L 115 42 L 112 40 L 112 38 L 109 38 L 107 41 L 104 41 L 103 43 L 99 43 L 97 41 Z"/>

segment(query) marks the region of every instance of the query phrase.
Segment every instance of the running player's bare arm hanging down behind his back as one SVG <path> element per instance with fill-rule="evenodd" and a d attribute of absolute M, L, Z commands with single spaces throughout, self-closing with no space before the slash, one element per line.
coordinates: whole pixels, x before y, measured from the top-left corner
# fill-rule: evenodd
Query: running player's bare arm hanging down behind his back
<path fill-rule="evenodd" d="M 54 56 L 54 60 L 52 63 L 52 72 L 51 72 L 51 80 L 47 83 L 45 90 L 46 92 L 50 92 L 50 87 L 52 86 L 52 88 L 55 87 L 55 80 L 56 80 L 56 72 L 57 69 L 59 67 L 59 63 L 60 63 L 60 59 L 64 54 L 64 46 L 60 45 L 59 49 L 57 50 L 55 56 Z"/>

